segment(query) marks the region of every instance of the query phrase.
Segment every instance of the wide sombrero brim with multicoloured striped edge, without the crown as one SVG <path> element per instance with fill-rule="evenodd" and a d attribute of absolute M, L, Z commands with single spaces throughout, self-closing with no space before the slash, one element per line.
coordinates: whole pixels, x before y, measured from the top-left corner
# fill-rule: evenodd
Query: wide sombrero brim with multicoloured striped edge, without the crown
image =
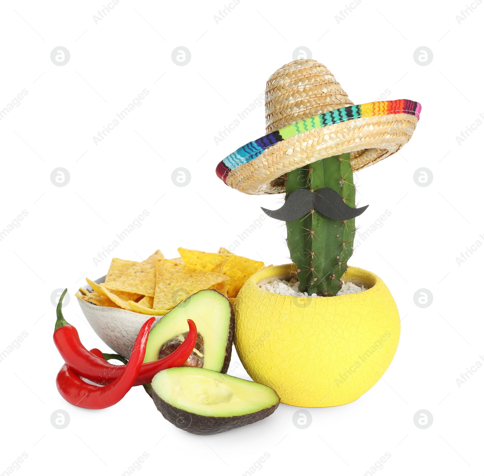
<path fill-rule="evenodd" d="M 236 190 L 263 195 L 283 193 L 287 172 L 333 155 L 349 152 L 352 169 L 363 169 L 408 142 L 421 109 L 407 99 L 334 109 L 245 144 L 216 173 Z"/>

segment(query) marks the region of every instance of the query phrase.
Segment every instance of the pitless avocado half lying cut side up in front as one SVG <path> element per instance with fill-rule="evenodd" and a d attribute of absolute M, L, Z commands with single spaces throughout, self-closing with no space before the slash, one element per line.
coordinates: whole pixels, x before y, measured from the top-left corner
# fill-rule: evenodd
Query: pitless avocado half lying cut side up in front
<path fill-rule="evenodd" d="M 196 435 L 255 423 L 272 415 L 280 402 L 266 385 L 196 367 L 158 372 L 151 397 L 166 420 Z"/>

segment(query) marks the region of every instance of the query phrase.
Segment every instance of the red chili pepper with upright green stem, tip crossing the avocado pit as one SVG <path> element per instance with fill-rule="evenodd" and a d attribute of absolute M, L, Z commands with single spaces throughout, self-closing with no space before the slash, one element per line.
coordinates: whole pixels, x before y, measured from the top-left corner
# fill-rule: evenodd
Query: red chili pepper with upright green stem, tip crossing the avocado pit
<path fill-rule="evenodd" d="M 57 305 L 57 322 L 54 331 L 54 343 L 57 349 L 69 367 L 74 369 L 79 375 L 91 380 L 91 382 L 96 384 L 110 384 L 114 382 L 121 376 L 125 366 L 111 365 L 109 362 L 106 362 L 106 357 L 113 358 L 112 356 L 116 354 L 103 354 L 103 358 L 97 353 L 89 352 L 81 344 L 76 328 L 66 322 L 62 315 L 62 300 L 65 292 L 67 290 L 62 293 Z M 149 384 L 160 370 L 181 367 L 186 362 L 197 343 L 195 322 L 188 319 L 188 328 L 187 337 L 174 352 L 163 359 L 147 362 L 141 366 L 134 385 Z M 101 351 L 98 352 L 101 353 Z"/>

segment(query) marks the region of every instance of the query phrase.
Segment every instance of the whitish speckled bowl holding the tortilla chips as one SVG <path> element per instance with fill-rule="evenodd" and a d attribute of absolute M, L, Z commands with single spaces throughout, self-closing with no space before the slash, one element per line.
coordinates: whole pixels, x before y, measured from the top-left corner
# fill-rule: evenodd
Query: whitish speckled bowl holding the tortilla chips
<path fill-rule="evenodd" d="M 104 283 L 106 276 L 96 279 L 97 284 Z M 83 287 L 92 292 L 89 285 Z M 129 359 L 131 350 L 135 344 L 141 326 L 151 317 L 146 314 L 119 309 L 117 307 L 96 306 L 81 298 L 77 302 L 82 309 L 86 319 L 91 324 L 94 332 L 107 344 L 114 352 L 119 353 L 126 359 Z M 162 316 L 155 316 L 157 324 Z"/>

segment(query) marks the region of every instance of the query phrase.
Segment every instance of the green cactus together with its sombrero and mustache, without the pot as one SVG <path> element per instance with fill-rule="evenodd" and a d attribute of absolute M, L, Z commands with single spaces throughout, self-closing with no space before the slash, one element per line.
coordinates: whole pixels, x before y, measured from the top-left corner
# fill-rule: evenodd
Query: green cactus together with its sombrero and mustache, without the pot
<path fill-rule="evenodd" d="M 279 210 L 300 291 L 335 296 L 353 253 L 353 171 L 394 154 L 412 137 L 421 105 L 353 104 L 318 61 L 285 64 L 267 80 L 266 135 L 220 162 L 217 176 L 251 195 L 286 193 Z"/>

